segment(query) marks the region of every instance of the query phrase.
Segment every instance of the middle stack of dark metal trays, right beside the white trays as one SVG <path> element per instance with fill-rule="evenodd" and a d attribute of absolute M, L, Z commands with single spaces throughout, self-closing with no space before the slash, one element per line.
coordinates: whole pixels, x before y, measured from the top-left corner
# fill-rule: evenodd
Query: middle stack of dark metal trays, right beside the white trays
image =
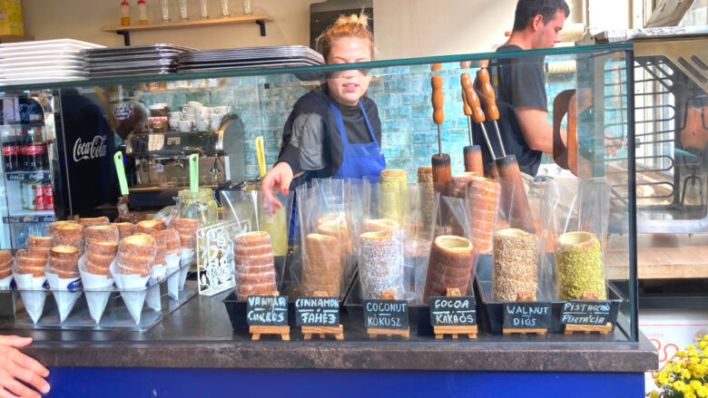
<path fill-rule="evenodd" d="M 85 50 L 86 70 L 92 78 L 177 73 L 183 53 L 193 48 L 173 44 L 134 45 Z"/>

